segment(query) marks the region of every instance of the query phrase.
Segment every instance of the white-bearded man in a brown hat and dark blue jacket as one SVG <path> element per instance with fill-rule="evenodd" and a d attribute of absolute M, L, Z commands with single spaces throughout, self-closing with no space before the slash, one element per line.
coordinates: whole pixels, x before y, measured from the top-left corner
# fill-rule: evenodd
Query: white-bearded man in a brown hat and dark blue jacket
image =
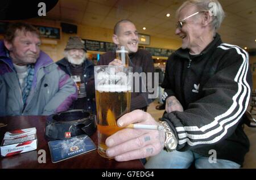
<path fill-rule="evenodd" d="M 84 109 L 95 113 L 95 89 L 93 63 L 86 59 L 86 49 L 80 37 L 69 37 L 64 49 L 64 58 L 57 61 L 61 70 L 72 76 L 80 77 L 78 98 L 70 109 Z"/>

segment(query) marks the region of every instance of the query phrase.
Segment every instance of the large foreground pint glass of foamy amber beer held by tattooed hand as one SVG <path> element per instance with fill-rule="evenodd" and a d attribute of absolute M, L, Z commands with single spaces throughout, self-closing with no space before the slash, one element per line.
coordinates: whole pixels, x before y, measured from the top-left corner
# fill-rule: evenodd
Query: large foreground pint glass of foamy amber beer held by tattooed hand
<path fill-rule="evenodd" d="M 105 158 L 106 139 L 121 130 L 117 120 L 130 112 L 132 67 L 95 66 L 98 153 Z"/>

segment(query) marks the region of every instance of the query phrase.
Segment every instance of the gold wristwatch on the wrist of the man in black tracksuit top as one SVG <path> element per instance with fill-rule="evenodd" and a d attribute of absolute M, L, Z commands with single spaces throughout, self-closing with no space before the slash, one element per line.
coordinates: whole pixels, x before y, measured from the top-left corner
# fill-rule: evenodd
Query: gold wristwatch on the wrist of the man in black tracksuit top
<path fill-rule="evenodd" d="M 177 139 L 172 132 L 170 126 L 166 121 L 159 121 L 160 125 L 163 126 L 164 132 L 166 134 L 166 139 L 164 140 L 164 150 L 167 152 L 172 152 L 177 147 Z"/>

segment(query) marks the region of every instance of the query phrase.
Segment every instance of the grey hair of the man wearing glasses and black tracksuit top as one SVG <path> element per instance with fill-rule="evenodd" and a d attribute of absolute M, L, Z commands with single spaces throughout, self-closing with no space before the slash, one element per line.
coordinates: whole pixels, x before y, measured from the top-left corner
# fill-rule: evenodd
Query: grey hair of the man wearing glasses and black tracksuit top
<path fill-rule="evenodd" d="M 212 20 L 212 29 L 214 31 L 217 31 L 221 27 L 221 23 L 225 18 L 225 12 L 222 9 L 222 6 L 218 0 L 188 0 L 185 1 L 179 9 L 176 11 L 176 16 L 180 14 L 180 11 L 185 7 L 185 6 L 195 6 L 197 11 L 210 11 L 212 6 L 210 6 L 210 3 L 214 3 L 214 7 L 216 9 L 214 12 L 216 14 L 213 14 L 213 20 Z"/>

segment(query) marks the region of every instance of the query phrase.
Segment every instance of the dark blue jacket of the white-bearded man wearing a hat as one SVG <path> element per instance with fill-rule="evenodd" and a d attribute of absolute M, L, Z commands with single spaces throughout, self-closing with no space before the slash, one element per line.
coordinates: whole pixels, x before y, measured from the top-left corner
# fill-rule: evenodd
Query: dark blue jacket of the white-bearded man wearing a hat
<path fill-rule="evenodd" d="M 94 65 L 92 61 L 86 59 L 84 61 L 84 72 L 83 78 L 86 89 L 86 102 L 85 102 L 85 110 L 96 113 L 96 103 L 95 103 L 95 87 L 94 87 Z M 56 64 L 61 68 L 61 70 L 65 71 L 68 75 L 71 75 L 71 68 L 66 58 L 60 59 L 56 62 Z M 70 109 L 73 109 L 73 104 Z"/>

